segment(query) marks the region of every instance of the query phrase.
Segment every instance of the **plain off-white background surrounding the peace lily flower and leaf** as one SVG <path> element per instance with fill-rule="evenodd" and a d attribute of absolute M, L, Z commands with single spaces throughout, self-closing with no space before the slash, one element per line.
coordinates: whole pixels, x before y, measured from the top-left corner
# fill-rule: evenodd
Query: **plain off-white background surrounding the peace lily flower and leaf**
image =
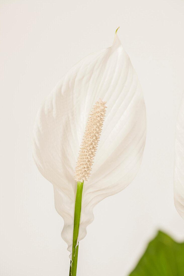
<path fill-rule="evenodd" d="M 0 1 L 0 275 L 69 275 L 52 185 L 33 162 L 31 129 L 40 103 L 85 55 L 119 38 L 140 80 L 147 139 L 140 170 L 94 209 L 80 242 L 78 275 L 128 275 L 161 229 L 178 241 L 174 207 L 175 121 L 184 89 L 182 0 Z"/>

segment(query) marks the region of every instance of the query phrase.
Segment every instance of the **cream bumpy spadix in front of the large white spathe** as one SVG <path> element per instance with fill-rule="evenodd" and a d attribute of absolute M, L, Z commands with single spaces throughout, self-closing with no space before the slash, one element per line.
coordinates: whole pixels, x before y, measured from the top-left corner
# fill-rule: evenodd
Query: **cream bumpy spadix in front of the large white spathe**
<path fill-rule="evenodd" d="M 75 180 L 83 182 L 88 181 L 90 177 L 90 171 L 92 163 L 94 160 L 95 152 L 98 147 L 98 141 L 101 135 L 103 121 L 107 108 L 105 106 L 106 102 L 96 102 L 91 111 L 90 118 L 87 123 L 86 131 L 83 137 L 83 142 L 79 151 L 79 156 L 77 158 L 76 168 L 75 168 Z"/>

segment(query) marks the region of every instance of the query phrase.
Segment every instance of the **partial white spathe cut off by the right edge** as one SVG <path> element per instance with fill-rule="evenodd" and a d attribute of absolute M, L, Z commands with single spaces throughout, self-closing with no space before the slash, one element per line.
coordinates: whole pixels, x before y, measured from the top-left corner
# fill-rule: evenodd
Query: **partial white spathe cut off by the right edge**
<path fill-rule="evenodd" d="M 184 92 L 175 132 L 174 204 L 178 213 L 184 219 Z"/>

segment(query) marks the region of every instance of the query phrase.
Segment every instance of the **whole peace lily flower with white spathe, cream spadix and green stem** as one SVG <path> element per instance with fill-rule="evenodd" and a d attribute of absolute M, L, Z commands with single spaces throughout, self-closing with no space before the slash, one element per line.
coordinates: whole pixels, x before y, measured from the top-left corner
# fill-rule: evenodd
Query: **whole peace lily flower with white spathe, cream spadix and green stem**
<path fill-rule="evenodd" d="M 64 219 L 70 275 L 76 275 L 78 242 L 94 206 L 132 182 L 145 139 L 143 94 L 116 31 L 111 47 L 88 55 L 60 79 L 33 126 L 33 157 L 53 184 Z"/>

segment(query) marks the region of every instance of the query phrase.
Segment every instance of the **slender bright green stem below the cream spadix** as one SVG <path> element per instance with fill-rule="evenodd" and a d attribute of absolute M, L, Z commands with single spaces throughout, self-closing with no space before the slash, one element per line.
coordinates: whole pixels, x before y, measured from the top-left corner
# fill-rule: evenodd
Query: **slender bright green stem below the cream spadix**
<path fill-rule="evenodd" d="M 76 274 L 77 274 L 77 259 L 78 259 L 77 238 L 78 238 L 78 230 L 79 230 L 79 224 L 80 224 L 83 183 L 84 183 L 84 181 L 77 182 L 77 192 L 76 192 L 76 198 L 75 198 L 74 225 L 73 225 L 72 261 L 70 261 L 69 276 L 76 276 Z"/>

